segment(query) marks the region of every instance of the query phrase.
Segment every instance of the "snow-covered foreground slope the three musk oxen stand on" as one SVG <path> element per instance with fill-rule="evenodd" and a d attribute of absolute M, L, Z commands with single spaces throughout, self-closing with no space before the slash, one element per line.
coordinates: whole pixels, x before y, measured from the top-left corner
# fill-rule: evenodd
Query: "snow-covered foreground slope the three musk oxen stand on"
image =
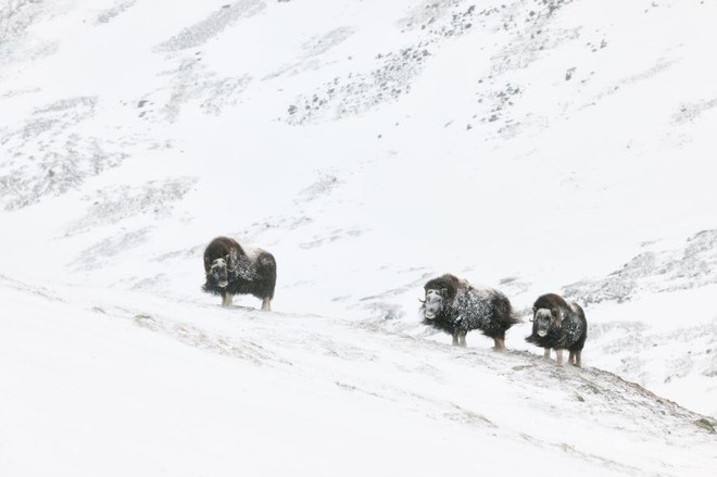
<path fill-rule="evenodd" d="M 2 278 L 17 314 L 0 340 L 3 475 L 703 476 L 717 463 L 703 416 L 595 368 L 84 292 Z"/>

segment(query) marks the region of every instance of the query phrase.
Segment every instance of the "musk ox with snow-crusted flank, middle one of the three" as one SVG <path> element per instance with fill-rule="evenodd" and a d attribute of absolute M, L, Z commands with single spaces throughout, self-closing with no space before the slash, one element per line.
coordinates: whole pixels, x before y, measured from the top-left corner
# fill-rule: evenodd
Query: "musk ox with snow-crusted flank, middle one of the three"
<path fill-rule="evenodd" d="M 492 288 L 474 288 L 451 274 L 428 280 L 424 290 L 424 324 L 452 335 L 454 346 L 465 347 L 466 334 L 479 329 L 493 338 L 495 351 L 503 351 L 505 331 L 520 323 L 503 293 Z"/>

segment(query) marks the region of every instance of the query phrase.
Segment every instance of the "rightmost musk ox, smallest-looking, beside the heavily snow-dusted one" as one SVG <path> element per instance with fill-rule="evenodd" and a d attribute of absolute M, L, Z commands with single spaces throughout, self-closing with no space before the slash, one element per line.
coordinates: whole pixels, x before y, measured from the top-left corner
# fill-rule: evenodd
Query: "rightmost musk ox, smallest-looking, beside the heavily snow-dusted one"
<path fill-rule="evenodd" d="M 543 294 L 532 305 L 532 335 L 526 341 L 544 348 L 543 357 L 550 359 L 555 350 L 555 361 L 563 364 L 563 350 L 570 352 L 568 363 L 580 366 L 582 348 L 588 338 L 588 321 L 579 304 L 568 304 L 555 293 Z"/>

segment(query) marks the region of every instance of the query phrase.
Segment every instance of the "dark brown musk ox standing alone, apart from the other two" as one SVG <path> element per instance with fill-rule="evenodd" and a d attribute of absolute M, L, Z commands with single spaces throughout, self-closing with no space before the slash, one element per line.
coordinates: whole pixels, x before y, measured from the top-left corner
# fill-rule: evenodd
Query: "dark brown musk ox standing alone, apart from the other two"
<path fill-rule="evenodd" d="M 222 306 L 231 304 L 231 298 L 249 293 L 262 300 L 262 310 L 272 310 L 276 287 L 276 261 L 262 249 L 244 250 L 236 240 L 217 237 L 204 250 L 207 293 L 222 297 Z"/>

